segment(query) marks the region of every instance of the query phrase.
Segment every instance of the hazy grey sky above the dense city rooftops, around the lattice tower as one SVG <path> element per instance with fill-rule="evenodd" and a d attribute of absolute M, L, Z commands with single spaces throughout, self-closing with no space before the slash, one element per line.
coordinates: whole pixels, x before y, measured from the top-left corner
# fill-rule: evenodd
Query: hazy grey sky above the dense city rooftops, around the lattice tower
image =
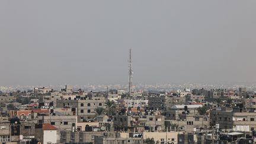
<path fill-rule="evenodd" d="M 0 85 L 256 82 L 256 1 L 0 1 Z"/>

